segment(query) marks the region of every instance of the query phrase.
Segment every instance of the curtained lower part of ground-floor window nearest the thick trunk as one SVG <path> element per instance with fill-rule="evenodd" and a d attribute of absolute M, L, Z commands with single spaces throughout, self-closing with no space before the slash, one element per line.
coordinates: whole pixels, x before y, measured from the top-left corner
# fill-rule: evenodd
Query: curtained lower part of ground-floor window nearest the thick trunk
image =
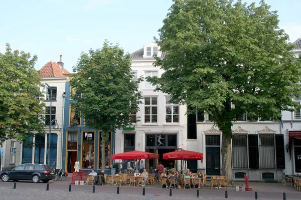
<path fill-rule="evenodd" d="M 232 146 L 233 168 L 247 168 L 247 158 L 247 146 Z"/>

